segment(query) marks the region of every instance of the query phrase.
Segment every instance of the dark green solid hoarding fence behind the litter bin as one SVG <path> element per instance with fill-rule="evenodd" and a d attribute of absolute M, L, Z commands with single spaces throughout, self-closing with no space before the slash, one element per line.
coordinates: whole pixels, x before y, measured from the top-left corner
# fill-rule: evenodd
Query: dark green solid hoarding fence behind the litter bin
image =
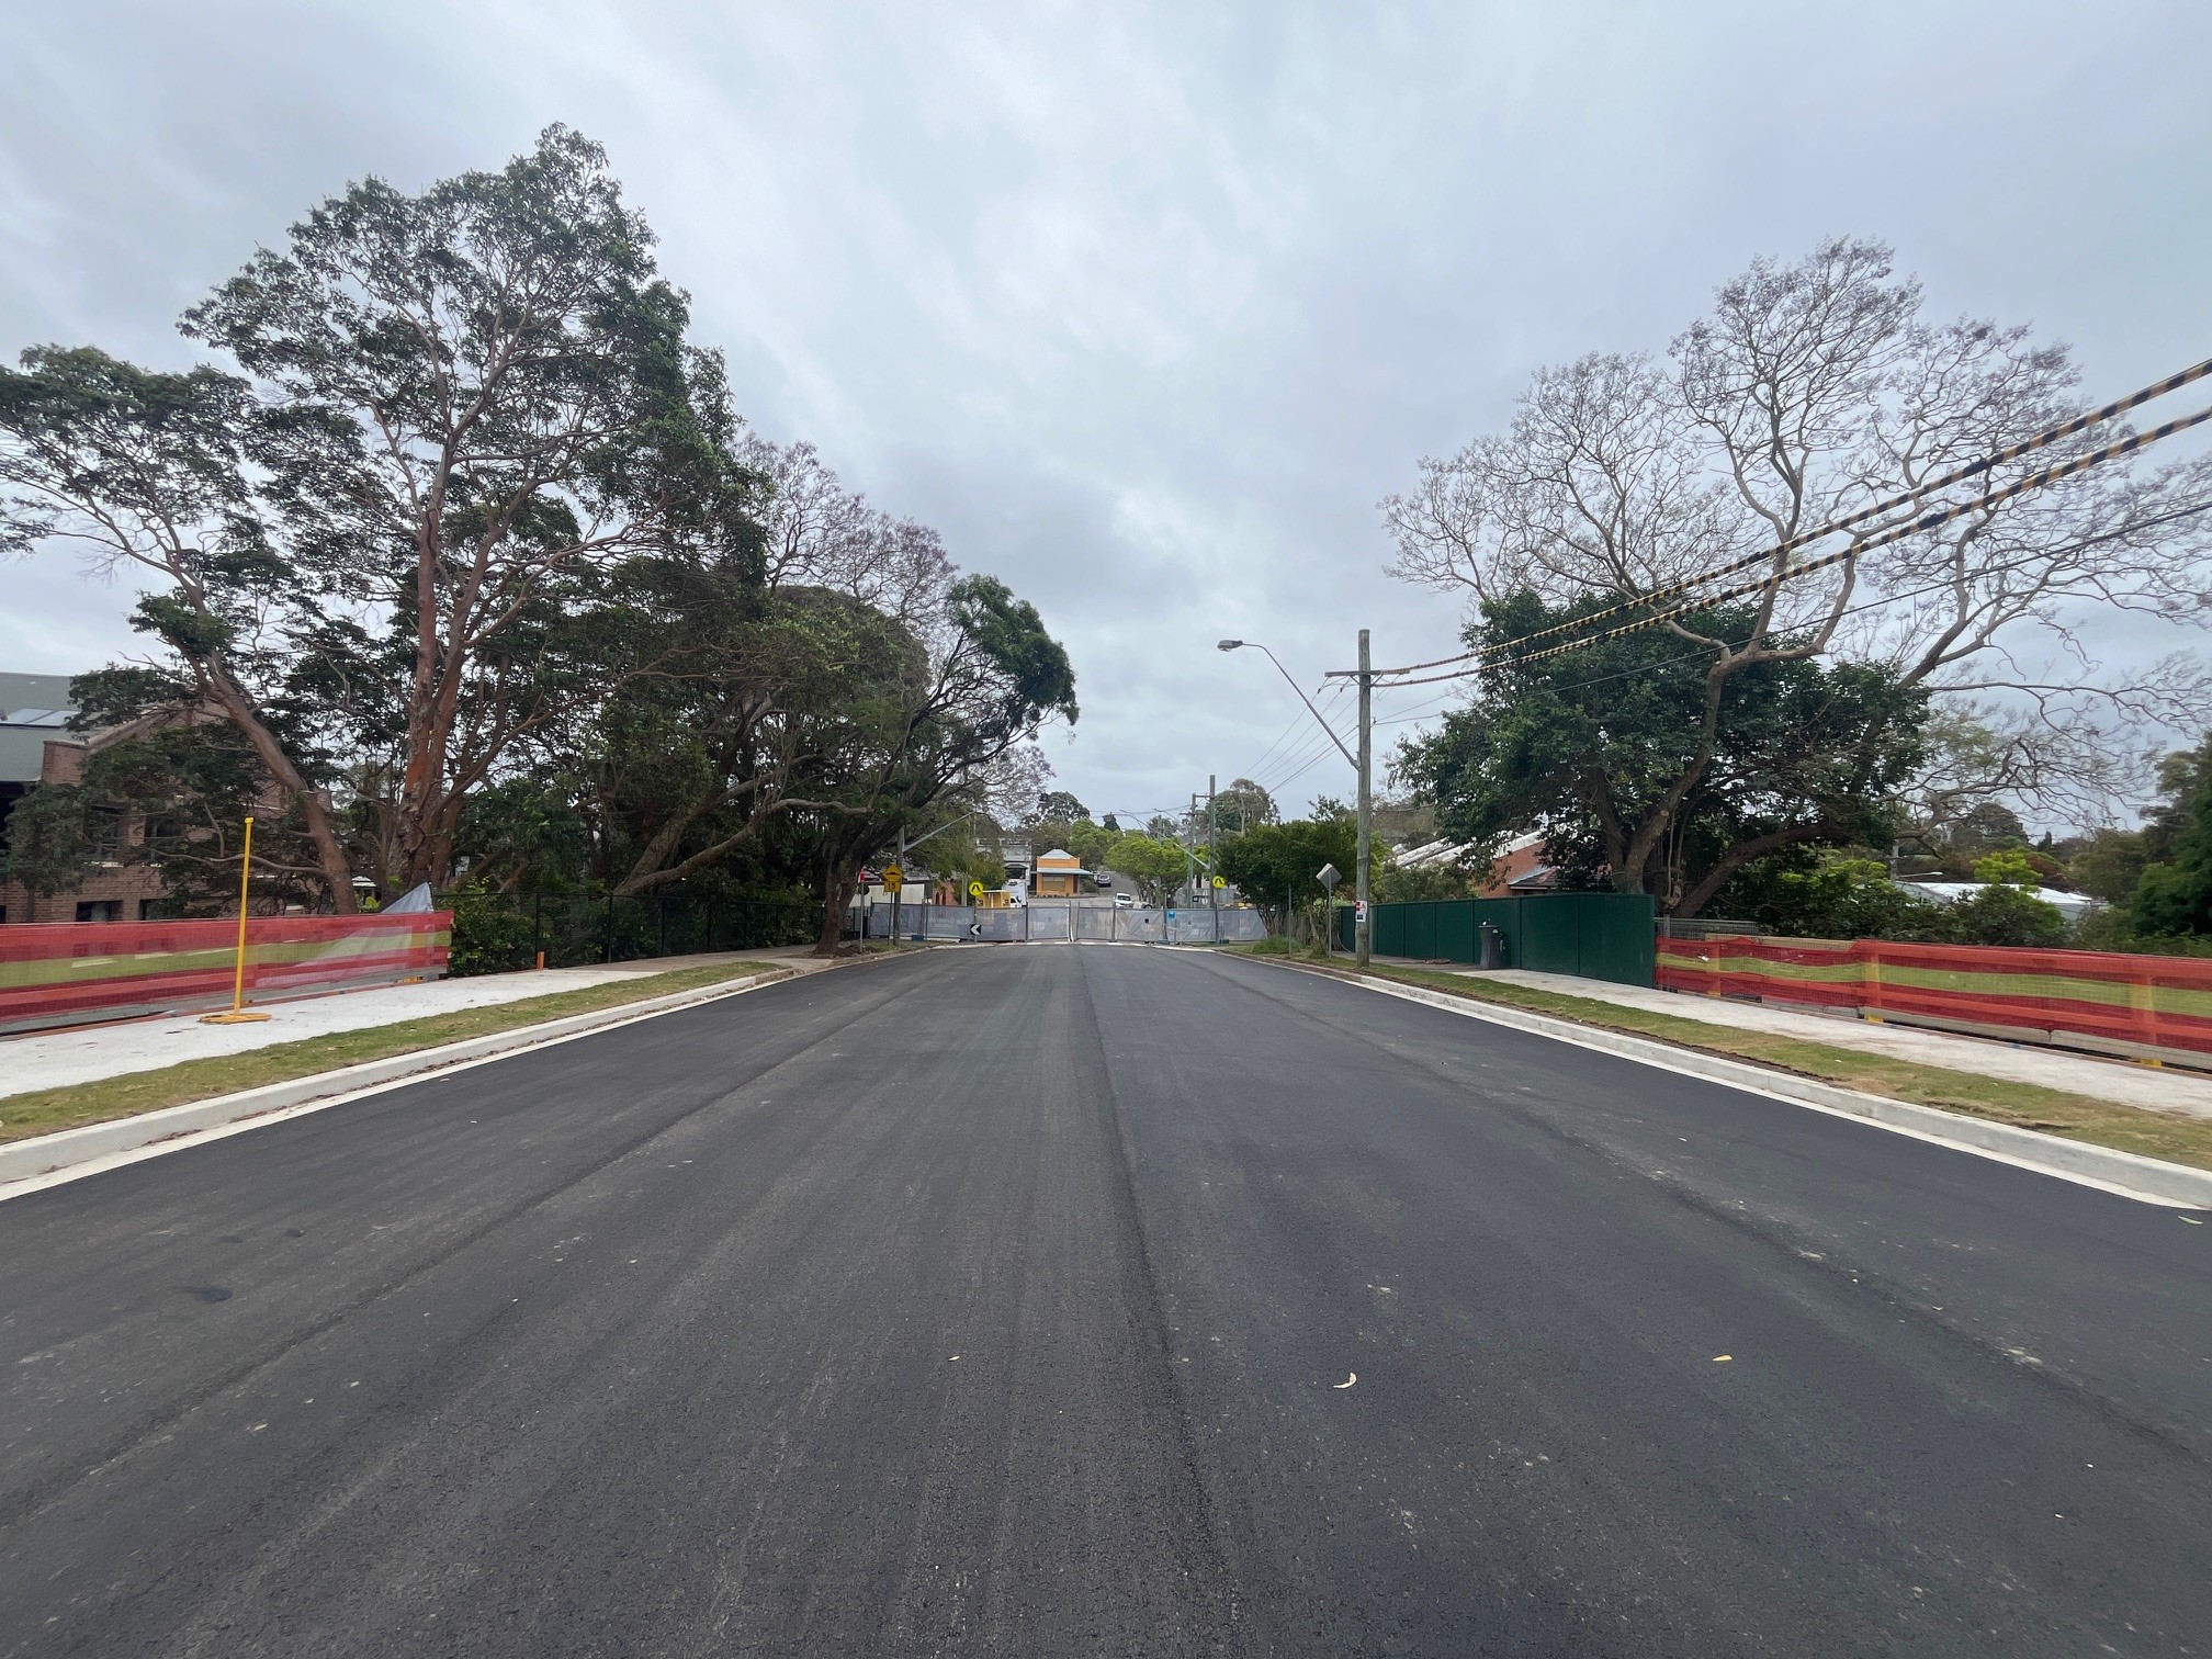
<path fill-rule="evenodd" d="M 1352 909 L 1336 911 L 1336 942 L 1354 949 Z M 1376 956 L 1482 960 L 1482 925 L 1506 938 L 1506 967 L 1575 973 L 1617 984 L 1652 982 L 1657 920 L 1650 894 L 1533 894 L 1376 905 Z"/>

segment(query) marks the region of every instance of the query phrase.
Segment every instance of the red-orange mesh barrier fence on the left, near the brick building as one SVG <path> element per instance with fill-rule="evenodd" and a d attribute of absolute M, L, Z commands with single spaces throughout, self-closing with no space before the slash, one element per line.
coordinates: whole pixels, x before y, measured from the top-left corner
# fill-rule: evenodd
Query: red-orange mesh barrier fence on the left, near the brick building
<path fill-rule="evenodd" d="M 248 920 L 246 1000 L 431 980 L 451 936 L 451 911 Z M 237 945 L 237 920 L 0 927 L 0 1031 L 228 1004 Z"/>

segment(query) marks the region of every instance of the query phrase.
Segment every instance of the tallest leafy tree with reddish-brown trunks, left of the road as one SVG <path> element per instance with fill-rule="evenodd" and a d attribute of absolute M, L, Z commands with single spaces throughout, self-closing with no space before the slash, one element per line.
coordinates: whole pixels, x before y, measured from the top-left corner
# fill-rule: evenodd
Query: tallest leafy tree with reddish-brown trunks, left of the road
<path fill-rule="evenodd" d="M 378 885 L 442 880 L 469 794 L 604 690 L 564 617 L 611 566 L 686 538 L 757 564 L 754 476 L 686 323 L 604 150 L 562 126 L 420 195 L 354 184 L 186 312 L 246 372 L 270 538 L 363 668 L 396 657 L 356 779 Z"/>

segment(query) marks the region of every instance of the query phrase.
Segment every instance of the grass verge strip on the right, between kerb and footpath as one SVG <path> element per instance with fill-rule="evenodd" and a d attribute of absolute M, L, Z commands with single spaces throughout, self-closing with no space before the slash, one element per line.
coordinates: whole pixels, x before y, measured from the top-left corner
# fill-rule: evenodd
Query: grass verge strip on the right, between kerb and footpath
<path fill-rule="evenodd" d="M 1352 978 L 1345 969 L 1323 967 L 1321 962 L 1303 962 L 1303 967 Z M 1703 1020 L 1626 1009 L 1619 1002 L 1540 991 L 1531 984 L 1513 984 L 1509 980 L 1469 980 L 1460 973 L 1425 973 L 1420 969 L 1383 967 L 1380 962 L 1369 967 L 1369 975 L 1418 984 L 1425 991 L 1444 991 L 1469 1002 L 1498 1002 L 1509 1009 L 1526 1009 L 1528 1013 L 1548 1013 L 1555 1020 L 1573 1020 L 1575 1024 L 1630 1031 L 1639 1037 L 1670 1042 L 1677 1048 L 1694 1048 L 1697 1053 L 1723 1055 L 1728 1060 L 1750 1060 L 1867 1095 L 1887 1095 L 1889 1099 L 1905 1099 L 1916 1106 L 1940 1106 L 1947 1113 L 1986 1117 L 1993 1124 L 2033 1128 L 2044 1135 L 2064 1135 L 2073 1141 L 2112 1146 L 2121 1152 L 2141 1152 L 2143 1157 L 2163 1157 L 2168 1164 L 2190 1164 L 2212 1170 L 2212 1119 L 2205 1117 L 2152 1113 L 2141 1106 L 2119 1106 L 2064 1088 L 1980 1077 L 1971 1071 L 1951 1071 L 1947 1066 L 1922 1066 L 1911 1060 L 1858 1053 L 1825 1042 L 1805 1042 L 1803 1037 L 1778 1037 L 1767 1031 L 1714 1026 Z"/>

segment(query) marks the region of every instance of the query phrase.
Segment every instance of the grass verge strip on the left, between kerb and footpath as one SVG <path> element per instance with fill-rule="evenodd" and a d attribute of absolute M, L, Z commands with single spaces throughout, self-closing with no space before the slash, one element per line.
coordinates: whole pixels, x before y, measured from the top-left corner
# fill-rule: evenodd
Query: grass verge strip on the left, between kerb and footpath
<path fill-rule="evenodd" d="M 51 1135 L 53 1130 L 77 1128 L 82 1124 L 106 1124 L 115 1117 L 137 1117 L 139 1113 L 157 1113 L 164 1106 L 186 1106 L 195 1099 L 234 1095 L 241 1088 L 288 1084 L 294 1077 L 312 1077 L 323 1071 L 414 1053 L 416 1048 L 436 1048 L 445 1042 L 465 1042 L 467 1037 L 489 1037 L 498 1031 L 535 1026 L 546 1020 L 566 1020 L 571 1013 L 619 1009 L 624 1002 L 644 1002 L 646 998 L 661 998 L 675 991 L 697 991 L 748 973 L 763 973 L 770 967 L 774 964 L 719 962 L 714 967 L 677 969 L 675 973 L 648 973 L 639 980 L 611 980 L 606 984 L 588 984 L 582 991 L 555 991 L 542 998 L 524 998 L 522 1002 L 498 1002 L 487 1009 L 434 1013 L 392 1026 L 332 1031 L 321 1037 L 276 1042 L 268 1048 L 250 1048 L 243 1055 L 186 1060 L 159 1071 L 133 1071 L 91 1084 L 4 1095 L 0 1097 L 0 1141 Z"/>

